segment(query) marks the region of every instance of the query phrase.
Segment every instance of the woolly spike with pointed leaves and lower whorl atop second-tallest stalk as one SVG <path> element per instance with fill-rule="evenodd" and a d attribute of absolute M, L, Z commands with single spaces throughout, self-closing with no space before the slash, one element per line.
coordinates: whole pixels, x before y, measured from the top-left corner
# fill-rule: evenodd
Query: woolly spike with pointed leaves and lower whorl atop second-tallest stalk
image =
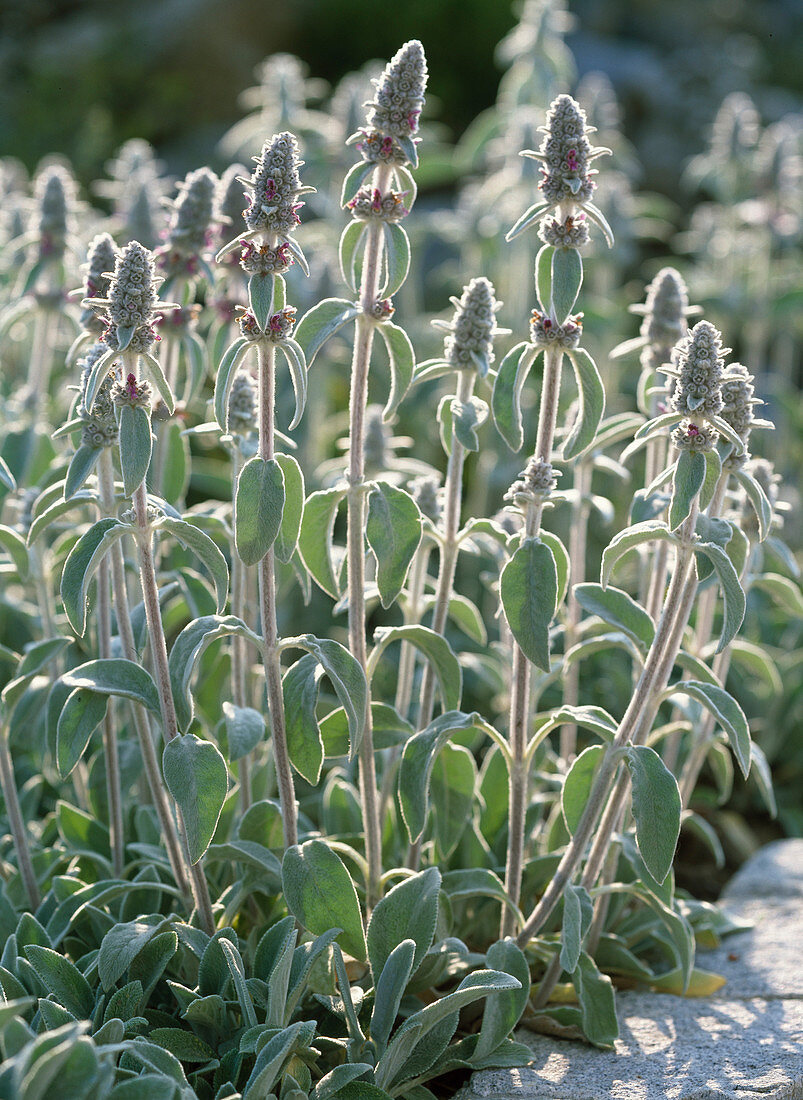
<path fill-rule="evenodd" d="M 594 131 L 587 125 L 585 112 L 571 96 L 558 96 L 547 114 L 547 125 L 540 151 L 524 150 L 521 156 L 541 162 L 543 179 L 538 185 L 542 199 L 519 218 L 507 240 L 518 237 L 536 219 L 546 219 L 554 212 L 551 221 L 543 222 L 541 239 L 556 248 L 580 248 L 587 241 L 586 217 L 603 231 L 608 245 L 614 243 L 614 234 L 602 211 L 591 201 L 595 184 L 592 176 L 596 169 L 590 167 L 597 156 L 609 153 L 609 148 L 592 146 L 588 134 Z"/>

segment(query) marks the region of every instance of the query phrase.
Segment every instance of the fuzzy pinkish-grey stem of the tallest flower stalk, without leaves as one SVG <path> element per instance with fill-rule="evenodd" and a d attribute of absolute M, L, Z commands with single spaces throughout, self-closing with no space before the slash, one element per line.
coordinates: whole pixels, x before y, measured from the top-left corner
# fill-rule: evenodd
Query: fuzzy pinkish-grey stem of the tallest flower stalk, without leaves
<path fill-rule="evenodd" d="M 374 187 L 384 193 L 391 169 L 382 166 L 374 172 Z M 351 364 L 349 399 L 349 493 L 346 560 L 349 581 L 349 649 L 363 671 L 367 663 L 365 645 L 365 406 L 369 394 L 369 367 L 374 341 L 372 310 L 380 289 L 383 230 L 378 219 L 369 222 L 363 255 L 360 309 L 356 318 L 354 355 Z M 380 796 L 376 785 L 374 732 L 371 706 L 366 704 L 365 733 L 360 745 L 360 799 L 365 831 L 365 857 L 369 866 L 366 904 L 371 910 L 380 899 L 382 878 L 382 826 Z"/>

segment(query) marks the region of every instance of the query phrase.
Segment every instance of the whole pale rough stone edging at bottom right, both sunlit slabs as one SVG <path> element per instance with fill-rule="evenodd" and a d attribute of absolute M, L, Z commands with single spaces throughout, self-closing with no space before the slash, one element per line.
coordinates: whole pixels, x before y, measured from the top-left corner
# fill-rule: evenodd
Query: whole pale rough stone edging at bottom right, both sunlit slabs
<path fill-rule="evenodd" d="M 617 994 L 614 1050 L 521 1030 L 531 1064 L 475 1074 L 464 1100 L 803 1100 L 803 840 L 759 851 L 723 902 L 752 927 L 698 953 L 727 978 L 714 997 Z"/>

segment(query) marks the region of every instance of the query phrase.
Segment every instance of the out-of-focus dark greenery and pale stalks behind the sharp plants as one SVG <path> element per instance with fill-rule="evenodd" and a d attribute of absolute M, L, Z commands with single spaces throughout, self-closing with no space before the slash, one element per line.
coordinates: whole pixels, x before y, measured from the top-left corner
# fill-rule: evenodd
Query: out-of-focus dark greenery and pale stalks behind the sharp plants
<path fill-rule="evenodd" d="M 605 377 L 609 413 L 635 405 L 637 364 L 607 362 L 612 348 L 636 334 L 628 306 L 644 300 L 646 283 L 672 263 L 692 301 L 723 330 L 733 358 L 757 375 L 778 428 L 762 433 L 756 450 L 773 458 L 783 475 L 782 496 L 791 504 L 784 537 L 800 547 L 800 0 L 570 0 L 568 9 L 560 0 L 0 0 L 0 155 L 19 158 L 26 169 L 15 173 L 8 160 L 0 179 L 7 240 L 19 232 L 11 223 L 20 196 L 19 217 L 24 213 L 24 175 L 45 156 L 68 156 L 82 197 L 108 213 L 133 163 L 114 167 L 111 158 L 133 138 L 151 142 L 166 167 L 169 178 L 154 175 L 158 196 L 172 194 L 175 180 L 201 164 L 220 173 L 234 160 L 248 163 L 271 133 L 289 128 L 308 162 L 305 182 L 319 189 L 304 212 L 312 278 L 295 272 L 289 280 L 299 311 L 342 293 L 334 250 L 345 219 L 337 196 L 352 162 L 343 140 L 360 124 L 359 105 L 378 65 L 366 59 L 384 63 L 405 40 L 419 37 L 430 68 L 421 198 L 409 221 L 414 268 L 396 305 L 420 360 L 439 348 L 429 319 L 448 309 L 449 295 L 475 274 L 495 282 L 512 341 L 524 337 L 535 241 L 503 241 L 537 184 L 532 162 L 518 151 L 539 143 L 549 101 L 571 91 L 598 128 L 600 144 L 614 153 L 601 163 L 598 197 L 616 245 L 609 253 L 591 250 L 582 297 L 586 342 Z M 355 69 L 356 79 L 349 76 Z M 118 174 L 116 184 L 92 184 L 110 173 Z M 128 239 L 120 222 L 114 226 Z M 319 466 L 321 483 L 327 464 L 342 455 L 337 440 L 345 424 L 336 410 L 346 400 L 344 344 L 332 341 L 327 364 L 326 373 L 322 364 L 316 367 L 326 381 L 314 387 L 300 444 L 308 468 Z M 10 365 L 7 378 L 13 377 Z M 413 448 L 409 437 L 422 422 L 433 424 L 432 402 L 435 391 L 425 385 L 405 404 L 386 464 L 394 449 Z M 415 455 L 439 463 L 431 436 L 422 439 L 419 431 Z M 496 444 L 481 448 L 468 468 L 469 510 L 495 510 L 521 461 L 521 454 L 502 457 Z M 603 466 L 594 488 L 613 501 L 623 525 L 632 484 Z M 190 498 L 224 498 L 227 491 L 212 451 L 199 446 Z M 562 537 L 568 521 L 558 509 L 553 522 Z M 593 526 L 588 575 L 615 529 Z M 794 572 L 793 562 L 772 564 Z M 466 566 L 458 586 L 481 592 L 491 583 Z M 286 614 L 309 622 L 320 598 L 299 612 L 290 595 Z M 488 591 L 481 598 L 493 614 L 495 597 Z M 770 822 L 755 787 L 738 780 L 727 812 L 719 810 L 728 798 L 714 781 L 722 777 L 710 774 L 707 785 L 704 777 L 698 809 L 716 823 L 729 867 L 769 836 L 803 835 L 801 618 L 757 591 L 746 635 L 768 647 L 780 674 L 773 686 L 744 669 L 736 673 L 739 698 L 773 767 L 779 817 Z M 597 697 L 586 701 L 609 705 L 606 693 L 620 690 L 616 673 L 604 662 L 592 673 L 588 666 L 588 690 Z M 477 685 L 480 696 L 483 691 L 487 684 Z M 482 697 L 476 703 L 482 710 Z M 684 845 L 686 875 L 700 879 L 693 889 L 715 892 L 726 871 L 713 870 L 692 840 Z"/>

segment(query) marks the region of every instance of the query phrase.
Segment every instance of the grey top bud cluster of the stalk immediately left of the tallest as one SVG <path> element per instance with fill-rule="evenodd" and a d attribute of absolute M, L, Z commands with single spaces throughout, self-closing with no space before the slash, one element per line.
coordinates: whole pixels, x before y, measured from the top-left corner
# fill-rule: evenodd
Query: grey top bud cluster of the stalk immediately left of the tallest
<path fill-rule="evenodd" d="M 250 230 L 286 238 L 295 231 L 300 219 L 298 202 L 301 179 L 298 169 L 304 163 L 298 155 L 298 143 L 285 131 L 265 142 L 251 177 L 245 224 Z"/>

